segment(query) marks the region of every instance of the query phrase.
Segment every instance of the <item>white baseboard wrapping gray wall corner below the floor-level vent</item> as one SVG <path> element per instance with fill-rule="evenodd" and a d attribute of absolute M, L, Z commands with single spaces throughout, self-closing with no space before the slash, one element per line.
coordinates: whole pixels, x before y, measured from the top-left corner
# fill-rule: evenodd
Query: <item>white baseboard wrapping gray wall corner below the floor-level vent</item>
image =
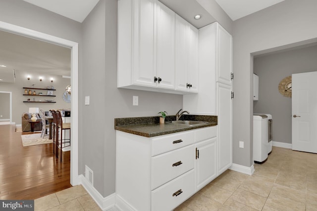
<path fill-rule="evenodd" d="M 84 175 L 79 175 L 79 184 L 81 184 L 86 191 L 89 193 L 89 195 L 95 200 L 95 202 L 97 203 L 97 205 L 103 210 L 106 211 L 110 208 L 113 208 L 115 205 L 115 193 L 107 196 L 107 197 L 103 197 L 97 190 L 95 187 L 93 187 L 88 181 L 87 179 L 84 177 Z"/>

